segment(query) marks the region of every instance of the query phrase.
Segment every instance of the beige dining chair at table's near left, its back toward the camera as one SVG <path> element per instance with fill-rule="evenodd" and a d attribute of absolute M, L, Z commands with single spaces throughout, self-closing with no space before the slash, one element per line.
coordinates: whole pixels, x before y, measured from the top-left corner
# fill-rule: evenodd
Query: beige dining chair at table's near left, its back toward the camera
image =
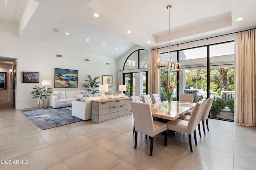
<path fill-rule="evenodd" d="M 153 152 L 154 136 L 164 132 L 164 146 L 167 145 L 167 125 L 165 123 L 154 121 L 150 104 L 131 102 L 132 113 L 135 123 L 135 143 L 134 148 L 137 147 L 138 132 L 148 135 L 150 138 L 150 156 Z"/>

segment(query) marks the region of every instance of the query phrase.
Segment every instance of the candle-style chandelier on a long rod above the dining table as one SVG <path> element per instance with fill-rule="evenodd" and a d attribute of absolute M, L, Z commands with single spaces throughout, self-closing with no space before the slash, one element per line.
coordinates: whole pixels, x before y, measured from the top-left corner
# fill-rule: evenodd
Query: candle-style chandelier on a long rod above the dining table
<path fill-rule="evenodd" d="M 154 68 L 157 68 L 160 70 L 168 70 L 170 72 L 179 72 L 179 71 L 182 71 L 180 67 L 180 63 L 177 60 L 172 61 L 172 56 L 171 56 L 173 55 L 174 57 L 173 59 L 175 59 L 175 56 L 170 46 L 170 8 L 172 8 L 172 5 L 167 5 L 166 8 L 169 10 L 169 46 L 168 46 L 168 49 L 164 52 L 164 54 L 159 59 L 157 59 L 156 64 L 154 64 Z M 166 56 L 165 59 L 161 60 L 162 58 L 164 58 L 164 56 Z M 163 61 L 164 61 L 164 64 L 163 64 Z"/>

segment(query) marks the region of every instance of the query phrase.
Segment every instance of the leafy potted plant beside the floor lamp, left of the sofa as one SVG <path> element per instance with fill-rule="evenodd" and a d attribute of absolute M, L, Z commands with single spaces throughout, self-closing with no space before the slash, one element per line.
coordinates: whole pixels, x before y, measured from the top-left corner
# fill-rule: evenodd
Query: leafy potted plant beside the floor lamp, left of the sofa
<path fill-rule="evenodd" d="M 45 86 L 43 87 L 38 87 L 35 86 L 33 87 L 34 91 L 31 92 L 33 95 L 32 99 L 37 98 L 38 99 L 38 104 L 42 104 L 44 101 L 44 98 L 46 99 L 50 94 L 52 94 L 52 88 L 48 87 L 47 88 L 47 96 L 46 96 L 46 88 Z"/>

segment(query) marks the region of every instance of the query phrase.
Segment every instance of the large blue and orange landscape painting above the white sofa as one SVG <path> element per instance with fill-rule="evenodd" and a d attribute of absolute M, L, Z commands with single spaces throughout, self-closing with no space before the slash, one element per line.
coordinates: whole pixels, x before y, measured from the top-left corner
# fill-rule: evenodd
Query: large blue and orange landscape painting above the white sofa
<path fill-rule="evenodd" d="M 54 87 L 78 87 L 78 70 L 55 68 Z"/>

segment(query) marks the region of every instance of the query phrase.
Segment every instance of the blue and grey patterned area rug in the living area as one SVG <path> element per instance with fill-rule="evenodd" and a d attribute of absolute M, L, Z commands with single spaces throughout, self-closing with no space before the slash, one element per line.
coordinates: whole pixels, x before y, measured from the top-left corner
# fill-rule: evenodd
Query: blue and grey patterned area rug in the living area
<path fill-rule="evenodd" d="M 82 121 L 82 119 L 72 116 L 71 110 L 68 110 L 67 107 L 29 109 L 22 110 L 22 113 L 42 130 Z"/>

